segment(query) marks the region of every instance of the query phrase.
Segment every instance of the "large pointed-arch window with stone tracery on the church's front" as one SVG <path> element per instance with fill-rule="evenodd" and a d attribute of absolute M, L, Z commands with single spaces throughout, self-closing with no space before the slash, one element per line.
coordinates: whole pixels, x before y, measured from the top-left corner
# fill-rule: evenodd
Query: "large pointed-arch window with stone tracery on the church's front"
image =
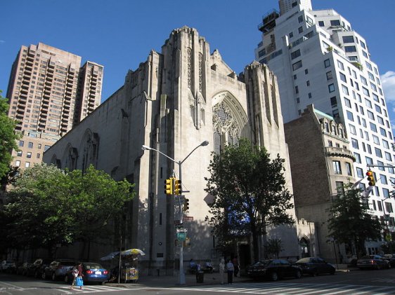
<path fill-rule="evenodd" d="M 220 153 L 226 144 L 237 144 L 242 135 L 247 135 L 247 115 L 227 91 L 215 95 L 213 105 L 214 151 Z"/>

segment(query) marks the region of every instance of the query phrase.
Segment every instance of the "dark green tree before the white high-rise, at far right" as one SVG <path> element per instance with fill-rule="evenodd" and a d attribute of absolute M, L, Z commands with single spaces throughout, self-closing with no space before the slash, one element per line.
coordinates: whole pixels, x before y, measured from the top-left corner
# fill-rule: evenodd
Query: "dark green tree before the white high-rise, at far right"
<path fill-rule="evenodd" d="M 377 217 L 368 213 L 368 202 L 363 200 L 361 191 L 344 187 L 329 209 L 329 237 L 356 249 L 358 258 L 365 254 L 365 241 L 379 240 L 384 226 Z"/>

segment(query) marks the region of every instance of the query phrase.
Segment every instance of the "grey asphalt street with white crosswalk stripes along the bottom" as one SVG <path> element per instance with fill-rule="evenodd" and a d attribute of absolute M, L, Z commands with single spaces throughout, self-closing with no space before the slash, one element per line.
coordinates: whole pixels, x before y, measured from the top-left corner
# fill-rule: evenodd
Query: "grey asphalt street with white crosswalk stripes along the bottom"
<path fill-rule="evenodd" d="M 395 268 L 390 270 L 354 270 L 336 275 L 305 276 L 302 279 L 280 280 L 278 282 L 238 282 L 228 284 L 197 284 L 195 286 L 177 287 L 170 285 L 164 278 L 163 284 L 115 285 L 89 284 L 83 290 L 70 289 L 63 282 L 36 280 L 20 275 L 0 274 L 0 294 L 292 294 L 292 295 L 349 295 L 349 294 L 395 294 Z"/>

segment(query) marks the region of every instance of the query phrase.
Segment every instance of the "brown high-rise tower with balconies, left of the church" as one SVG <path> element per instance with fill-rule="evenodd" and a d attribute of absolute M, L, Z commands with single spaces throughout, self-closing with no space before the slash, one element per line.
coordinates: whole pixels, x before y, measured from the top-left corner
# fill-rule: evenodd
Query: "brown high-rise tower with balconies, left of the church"
<path fill-rule="evenodd" d="M 13 166 L 41 163 L 42 153 L 101 103 L 103 66 L 39 43 L 22 46 L 11 69 L 8 116 L 18 121 Z"/>

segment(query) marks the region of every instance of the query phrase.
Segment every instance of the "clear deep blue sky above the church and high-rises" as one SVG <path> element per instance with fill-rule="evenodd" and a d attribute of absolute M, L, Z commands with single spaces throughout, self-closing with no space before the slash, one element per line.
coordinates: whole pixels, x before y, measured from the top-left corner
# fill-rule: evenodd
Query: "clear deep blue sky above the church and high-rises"
<path fill-rule="evenodd" d="M 395 125 L 395 1 L 312 0 L 313 9 L 333 8 L 368 42 L 377 63 Z M 372 5 L 373 4 L 373 5 Z M 195 27 L 236 73 L 254 60 L 261 41 L 257 26 L 277 0 L 1 0 L 0 90 L 6 95 L 20 46 L 39 42 L 103 64 L 106 100 L 129 69 L 161 50 L 173 29 Z M 378 28 L 378 29 L 377 29 Z"/>

